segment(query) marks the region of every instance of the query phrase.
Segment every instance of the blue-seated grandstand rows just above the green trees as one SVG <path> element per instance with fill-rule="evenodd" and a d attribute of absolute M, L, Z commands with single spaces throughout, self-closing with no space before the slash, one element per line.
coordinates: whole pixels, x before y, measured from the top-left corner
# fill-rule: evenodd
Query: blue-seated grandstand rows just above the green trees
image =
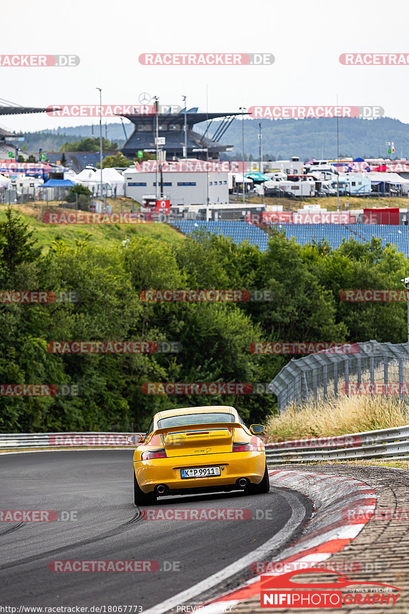
<path fill-rule="evenodd" d="M 199 220 L 176 220 L 172 225 L 186 235 L 194 230 L 206 229 L 210 233 L 231 236 L 234 243 L 240 244 L 248 241 L 250 245 L 258 246 L 265 251 L 269 237 L 261 228 L 244 221 L 217 221 L 204 222 Z M 332 249 L 338 249 L 343 239 L 352 237 L 357 243 L 368 243 L 372 236 L 382 239 L 382 246 L 391 243 L 397 251 L 409 256 L 409 226 L 381 225 L 381 224 L 292 224 L 281 223 L 273 228 L 286 233 L 286 238 L 294 237 L 296 243 L 305 245 L 315 241 L 319 243 L 327 240 Z"/>

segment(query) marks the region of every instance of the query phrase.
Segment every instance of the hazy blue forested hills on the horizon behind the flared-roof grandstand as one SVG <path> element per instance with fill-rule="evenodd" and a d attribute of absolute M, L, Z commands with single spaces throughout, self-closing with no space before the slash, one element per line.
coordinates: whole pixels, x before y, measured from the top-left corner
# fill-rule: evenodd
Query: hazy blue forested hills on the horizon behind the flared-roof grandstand
<path fill-rule="evenodd" d="M 337 157 L 337 120 L 322 119 L 281 119 L 281 120 L 245 120 L 245 152 L 258 160 L 259 155 L 259 123 L 262 126 L 262 150 L 264 159 L 288 159 L 298 155 L 301 160 L 310 158 Z M 208 134 L 212 136 L 218 123 L 213 122 Z M 205 130 L 205 123 L 197 124 L 199 131 Z M 125 125 L 126 133 L 131 135 L 133 126 Z M 85 136 L 91 136 L 91 125 L 75 126 L 74 128 L 56 128 L 35 133 L 26 133 L 25 144 L 28 151 L 36 151 L 42 147 L 44 151 L 57 151 L 66 141 L 78 141 Z M 94 125 L 94 136 L 99 135 L 99 126 Z M 105 126 L 103 134 L 105 138 Z M 119 123 L 107 125 L 107 137 L 110 141 L 124 143 L 123 127 Z M 339 120 L 339 150 L 342 157 L 386 158 L 388 157 L 386 141 L 394 141 L 394 158 L 409 158 L 409 124 L 390 117 L 375 120 L 348 119 Z M 234 120 L 223 138 L 223 144 L 234 146 L 234 152 L 229 157 L 239 158 L 242 155 L 242 123 Z M 226 157 L 226 156 L 224 156 Z"/>

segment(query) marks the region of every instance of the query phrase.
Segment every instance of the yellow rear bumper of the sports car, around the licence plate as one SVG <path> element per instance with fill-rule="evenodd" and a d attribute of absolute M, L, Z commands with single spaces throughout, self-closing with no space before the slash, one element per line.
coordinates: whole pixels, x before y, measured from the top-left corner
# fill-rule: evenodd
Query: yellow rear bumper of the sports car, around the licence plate
<path fill-rule="evenodd" d="M 182 480 L 180 470 L 189 467 L 224 467 L 220 476 Z M 143 492 L 151 492 L 158 484 L 164 484 L 167 494 L 180 491 L 223 490 L 235 487 L 239 478 L 248 478 L 259 484 L 266 468 L 264 452 L 231 452 L 224 454 L 202 454 L 200 456 L 175 456 L 166 459 L 134 462 L 138 484 Z M 178 492 L 176 492 L 178 491 Z"/>

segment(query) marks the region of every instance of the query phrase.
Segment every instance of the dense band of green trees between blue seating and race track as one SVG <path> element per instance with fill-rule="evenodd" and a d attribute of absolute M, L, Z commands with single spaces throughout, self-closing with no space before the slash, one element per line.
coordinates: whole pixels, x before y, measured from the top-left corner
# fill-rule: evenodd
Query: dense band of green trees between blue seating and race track
<path fill-rule="evenodd" d="M 291 356 L 251 354 L 258 341 L 406 340 L 406 304 L 348 303 L 346 289 L 399 289 L 408 259 L 381 240 L 331 250 L 274 232 L 265 252 L 197 231 L 170 244 L 136 234 L 114 248 L 87 239 L 38 246 L 8 209 L 0 222 L 0 290 L 77 293 L 77 302 L 0 302 L 0 384 L 78 386 L 77 396 L 0 397 L 0 432 L 143 430 L 175 406 L 234 405 L 251 422 L 271 394 L 149 395 L 147 383 L 269 383 Z M 146 301 L 147 289 L 269 290 L 272 300 Z M 4 297 L 4 295 L 3 295 Z M 177 343 L 177 353 L 53 354 L 52 341 Z M 49 347 L 49 346 L 48 346 Z M 145 387 L 143 387 L 145 384 Z"/>

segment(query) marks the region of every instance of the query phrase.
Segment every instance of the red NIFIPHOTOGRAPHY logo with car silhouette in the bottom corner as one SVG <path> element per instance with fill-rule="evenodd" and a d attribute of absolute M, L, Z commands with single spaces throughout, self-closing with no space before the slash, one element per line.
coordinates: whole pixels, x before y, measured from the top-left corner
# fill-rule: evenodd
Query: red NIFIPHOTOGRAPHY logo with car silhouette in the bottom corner
<path fill-rule="evenodd" d="M 333 574 L 333 581 L 292 581 L 304 573 Z M 342 594 L 342 589 L 348 592 Z M 397 591 L 397 594 L 394 593 Z M 302 569 L 277 576 L 262 575 L 260 605 L 262 608 L 342 608 L 343 605 L 394 605 L 400 588 L 380 582 L 353 580 L 342 573 L 326 569 Z"/>

